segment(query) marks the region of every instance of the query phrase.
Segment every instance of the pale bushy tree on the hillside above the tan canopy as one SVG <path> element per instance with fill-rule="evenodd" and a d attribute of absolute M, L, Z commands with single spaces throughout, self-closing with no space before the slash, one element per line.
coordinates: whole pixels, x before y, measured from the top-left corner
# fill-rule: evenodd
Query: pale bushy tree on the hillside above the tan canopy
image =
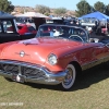
<path fill-rule="evenodd" d="M 39 13 L 46 14 L 46 13 L 50 13 L 50 8 L 46 7 L 46 5 L 40 5 L 37 4 L 35 10 Z"/>

